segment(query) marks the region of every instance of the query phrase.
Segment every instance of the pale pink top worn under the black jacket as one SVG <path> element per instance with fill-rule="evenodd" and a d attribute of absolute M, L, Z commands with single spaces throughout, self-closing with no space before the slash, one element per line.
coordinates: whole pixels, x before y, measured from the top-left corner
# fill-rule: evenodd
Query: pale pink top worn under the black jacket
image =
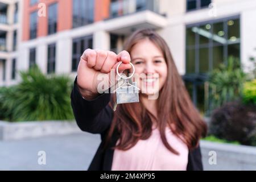
<path fill-rule="evenodd" d="M 146 140 L 139 140 L 127 151 L 114 150 L 112 170 L 114 171 L 159 171 L 186 170 L 188 164 L 188 147 L 177 138 L 168 127 L 166 138 L 171 147 L 179 152 L 175 155 L 163 144 L 158 129 Z"/>

